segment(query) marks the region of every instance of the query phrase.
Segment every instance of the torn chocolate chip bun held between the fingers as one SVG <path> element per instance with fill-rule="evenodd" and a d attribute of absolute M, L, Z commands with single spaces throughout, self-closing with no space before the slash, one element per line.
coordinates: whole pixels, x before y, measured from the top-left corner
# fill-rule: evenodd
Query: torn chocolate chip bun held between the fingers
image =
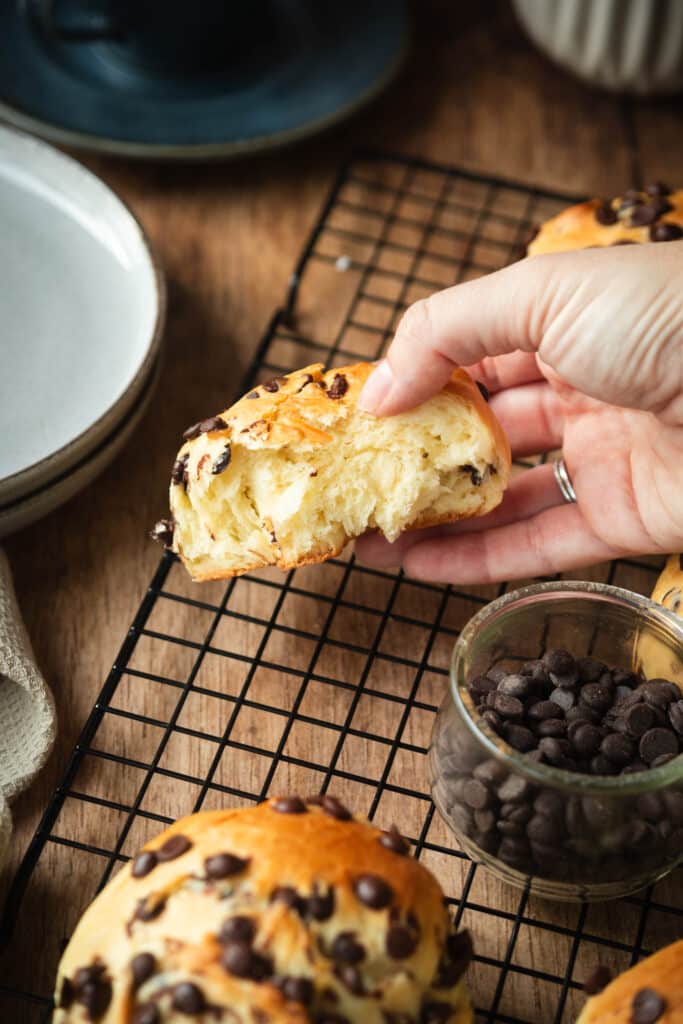
<path fill-rule="evenodd" d="M 306 367 L 254 388 L 185 432 L 172 520 L 155 535 L 195 580 L 325 561 L 368 529 L 483 515 L 503 497 L 510 447 L 456 371 L 433 398 L 377 418 L 357 408 L 373 367 Z"/>

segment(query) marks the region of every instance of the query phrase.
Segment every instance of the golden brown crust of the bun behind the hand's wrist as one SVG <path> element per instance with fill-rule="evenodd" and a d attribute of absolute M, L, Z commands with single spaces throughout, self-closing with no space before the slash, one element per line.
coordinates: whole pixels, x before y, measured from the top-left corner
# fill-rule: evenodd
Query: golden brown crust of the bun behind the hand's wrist
<path fill-rule="evenodd" d="M 683 227 L 683 189 L 666 197 L 650 197 L 641 193 L 640 198 L 647 203 L 656 199 L 666 200 L 673 209 L 663 213 L 655 223 Z M 591 246 L 650 242 L 650 225 L 632 225 L 634 208 L 624 207 L 624 197 L 617 197 L 606 204 L 616 215 L 613 224 L 602 224 L 596 218 L 596 212 L 605 206 L 604 200 L 592 199 L 568 207 L 541 226 L 539 233 L 527 246 L 527 254 L 538 256 L 542 253 L 565 252 L 568 249 L 588 249 Z"/>

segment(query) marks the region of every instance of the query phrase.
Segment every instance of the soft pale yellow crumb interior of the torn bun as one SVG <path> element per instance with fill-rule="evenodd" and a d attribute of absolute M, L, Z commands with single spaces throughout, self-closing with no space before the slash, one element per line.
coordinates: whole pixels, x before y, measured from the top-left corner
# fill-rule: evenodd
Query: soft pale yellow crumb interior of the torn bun
<path fill-rule="evenodd" d="M 368 529 L 394 541 L 423 516 L 487 511 L 506 482 L 475 411 L 443 395 L 388 419 L 356 410 L 325 430 L 332 438 L 325 444 L 233 443 L 225 472 L 191 479 L 188 494 L 176 498 L 190 569 L 271 561 L 273 543 L 293 562 L 338 551 Z"/>

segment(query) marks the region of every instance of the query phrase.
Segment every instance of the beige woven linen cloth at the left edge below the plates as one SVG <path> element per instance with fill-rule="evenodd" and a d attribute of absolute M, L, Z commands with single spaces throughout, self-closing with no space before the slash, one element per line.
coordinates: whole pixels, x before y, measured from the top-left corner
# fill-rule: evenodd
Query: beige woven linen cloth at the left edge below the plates
<path fill-rule="evenodd" d="M 55 728 L 52 694 L 36 666 L 0 548 L 0 870 L 11 838 L 8 802 L 45 764 Z"/>

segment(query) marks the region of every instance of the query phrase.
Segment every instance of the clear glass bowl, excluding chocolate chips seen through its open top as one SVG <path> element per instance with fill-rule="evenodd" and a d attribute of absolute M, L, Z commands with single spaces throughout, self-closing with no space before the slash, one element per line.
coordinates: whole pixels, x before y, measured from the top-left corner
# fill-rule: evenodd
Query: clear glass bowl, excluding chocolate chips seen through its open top
<path fill-rule="evenodd" d="M 683 754 L 598 776 L 513 750 L 480 718 L 467 684 L 494 666 L 518 671 L 552 647 L 610 668 L 635 669 L 643 652 L 647 664 L 676 666 L 683 621 L 594 583 L 539 584 L 488 604 L 456 643 L 429 752 L 432 796 L 463 849 L 511 885 L 561 900 L 624 896 L 683 860 Z"/>

